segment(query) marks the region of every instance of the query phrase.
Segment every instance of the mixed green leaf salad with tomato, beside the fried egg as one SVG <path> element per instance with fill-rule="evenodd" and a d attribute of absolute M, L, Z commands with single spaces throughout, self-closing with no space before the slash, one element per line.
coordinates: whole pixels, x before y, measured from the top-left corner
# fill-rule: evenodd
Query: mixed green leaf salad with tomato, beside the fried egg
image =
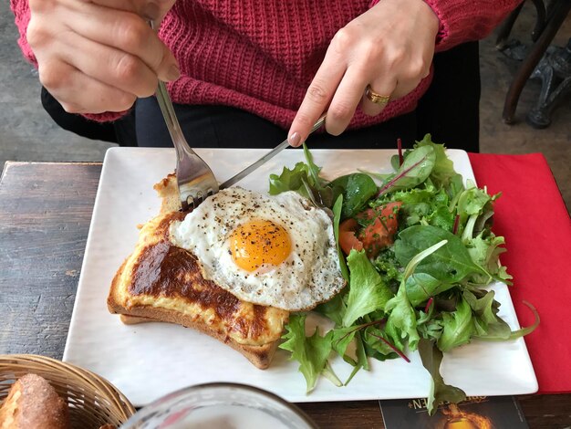
<path fill-rule="evenodd" d="M 306 313 L 292 314 L 285 327 L 280 347 L 299 362 L 307 392 L 321 375 L 340 386 L 368 371 L 370 359 L 408 361 L 408 353 L 419 351 L 432 379 L 429 413 L 439 403 L 462 401 L 465 393 L 441 377 L 442 353 L 474 339 L 513 340 L 539 323 L 532 307 L 535 324 L 512 331 L 486 288 L 511 284 L 498 259 L 504 237 L 490 228 L 500 194 L 470 181 L 464 186 L 430 134 L 393 156 L 390 174 L 356 172 L 328 182 L 305 145 L 304 152 L 306 162 L 270 176 L 270 194 L 296 191 L 332 216 L 348 283 L 315 309 L 334 323 L 332 330 L 307 337 Z M 354 367 L 346 381 L 329 363 L 336 354 Z"/>

